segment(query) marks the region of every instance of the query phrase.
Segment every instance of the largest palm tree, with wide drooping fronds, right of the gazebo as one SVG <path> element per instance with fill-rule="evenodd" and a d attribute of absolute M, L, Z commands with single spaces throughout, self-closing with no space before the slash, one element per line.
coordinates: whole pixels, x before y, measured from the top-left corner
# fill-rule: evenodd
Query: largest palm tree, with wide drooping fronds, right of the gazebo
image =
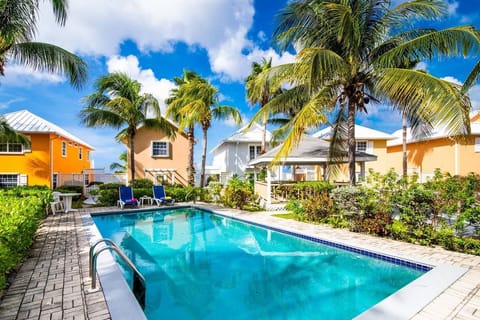
<path fill-rule="evenodd" d="M 276 41 L 281 49 L 295 46 L 299 53 L 295 62 L 261 75 L 257 85 L 268 78 L 272 83 L 287 82 L 291 88 L 252 118 L 258 121 L 291 101 L 302 102 L 277 158 L 298 144 L 305 129 L 328 123 L 333 113 L 331 149 L 337 150 L 342 143 L 347 146 L 349 180 L 354 185 L 356 114 L 367 112 L 368 103 L 380 100 L 407 116 L 428 119 L 432 125 L 443 123 L 450 134 L 469 132 L 470 101 L 459 86 L 399 67 L 412 59 L 479 50 L 479 32 L 473 26 L 435 30 L 411 23 L 445 13 L 446 5 L 439 0 L 415 0 L 396 7 L 389 0 L 300 0 L 284 8 Z"/>

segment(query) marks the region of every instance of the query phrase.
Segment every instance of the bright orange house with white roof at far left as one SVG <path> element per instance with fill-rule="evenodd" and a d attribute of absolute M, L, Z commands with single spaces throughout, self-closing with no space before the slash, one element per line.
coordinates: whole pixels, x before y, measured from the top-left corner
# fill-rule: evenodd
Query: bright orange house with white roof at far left
<path fill-rule="evenodd" d="M 58 175 L 81 174 L 90 168 L 90 152 L 94 148 L 59 126 L 27 110 L 6 113 L 2 118 L 31 143 L 0 143 L 0 187 L 53 188 Z"/>

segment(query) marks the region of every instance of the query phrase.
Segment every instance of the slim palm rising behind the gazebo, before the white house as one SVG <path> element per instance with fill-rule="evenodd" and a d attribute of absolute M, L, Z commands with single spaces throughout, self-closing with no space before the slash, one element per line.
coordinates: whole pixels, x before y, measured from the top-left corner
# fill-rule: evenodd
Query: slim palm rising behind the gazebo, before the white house
<path fill-rule="evenodd" d="M 253 62 L 252 71 L 250 75 L 245 80 L 245 88 L 247 90 L 247 99 L 252 105 L 260 104 L 260 108 L 263 108 L 272 97 L 271 88 L 269 82 L 266 81 L 263 83 L 263 86 L 260 90 L 254 90 L 255 81 L 259 74 L 269 70 L 272 67 L 272 58 L 266 59 L 263 58 L 261 63 Z M 276 90 L 278 91 L 278 90 Z M 262 119 L 262 145 L 260 147 L 260 153 L 264 154 L 267 152 L 267 120 L 268 115 L 265 113 Z"/>

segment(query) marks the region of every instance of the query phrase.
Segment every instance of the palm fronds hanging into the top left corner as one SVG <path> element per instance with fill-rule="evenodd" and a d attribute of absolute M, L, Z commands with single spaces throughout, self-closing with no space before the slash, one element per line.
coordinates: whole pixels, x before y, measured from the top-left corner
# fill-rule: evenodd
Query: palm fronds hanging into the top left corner
<path fill-rule="evenodd" d="M 67 0 L 50 0 L 55 20 L 64 25 Z M 87 65 L 76 55 L 58 46 L 34 42 L 40 1 L 0 1 L 0 75 L 8 60 L 34 70 L 60 73 L 79 89 L 87 80 Z"/>

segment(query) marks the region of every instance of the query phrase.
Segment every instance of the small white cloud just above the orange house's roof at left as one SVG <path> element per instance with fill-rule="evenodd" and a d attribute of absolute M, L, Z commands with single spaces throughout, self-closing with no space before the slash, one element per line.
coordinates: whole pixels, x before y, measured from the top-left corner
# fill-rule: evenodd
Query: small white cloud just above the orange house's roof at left
<path fill-rule="evenodd" d="M 45 71 L 35 71 L 20 64 L 12 64 L 5 67 L 5 77 L 2 84 L 12 86 L 32 86 L 41 82 L 61 83 L 66 79 L 60 75 L 48 73 Z"/>

